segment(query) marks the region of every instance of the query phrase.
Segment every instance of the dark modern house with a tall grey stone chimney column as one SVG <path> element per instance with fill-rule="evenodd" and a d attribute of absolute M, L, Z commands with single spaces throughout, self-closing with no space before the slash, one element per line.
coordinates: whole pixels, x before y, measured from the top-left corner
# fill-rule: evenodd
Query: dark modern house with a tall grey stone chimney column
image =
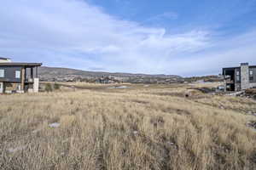
<path fill-rule="evenodd" d="M 225 91 L 256 88 L 256 65 L 241 63 L 238 67 L 223 68 L 223 76 Z"/>

